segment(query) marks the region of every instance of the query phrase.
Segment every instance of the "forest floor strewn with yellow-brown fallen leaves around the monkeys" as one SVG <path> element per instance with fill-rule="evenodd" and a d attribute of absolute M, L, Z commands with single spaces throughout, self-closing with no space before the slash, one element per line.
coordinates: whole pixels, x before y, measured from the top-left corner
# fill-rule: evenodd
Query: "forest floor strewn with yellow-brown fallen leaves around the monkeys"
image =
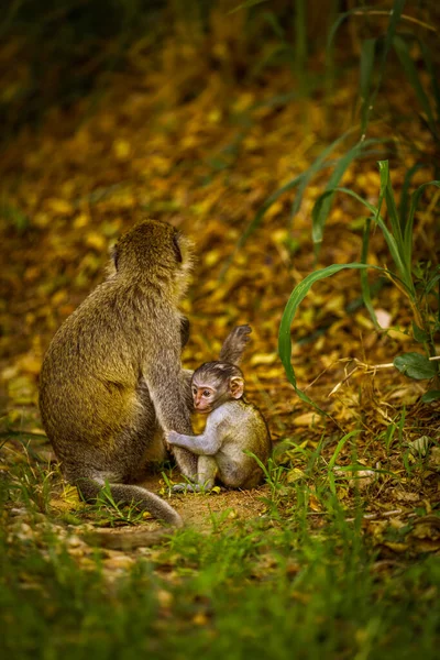
<path fill-rule="evenodd" d="M 329 170 L 319 172 L 306 188 L 292 226 L 293 196 L 285 195 L 237 249 L 266 198 L 350 128 L 354 78 L 348 74 L 326 103 L 310 98 L 277 105 L 267 101 L 289 91 L 288 74 L 274 76 L 266 86 L 234 86 L 188 62 L 184 66 L 175 53 L 162 68 L 144 64 L 141 73 L 114 75 L 94 112 L 90 99 L 69 111 L 51 110 L 41 130 L 25 129 L 10 141 L 0 163 L 0 240 L 6 256 L 0 470 L 2 552 L 10 590 L 4 592 L 9 595 L 3 596 L 3 606 L 22 607 L 24 617 L 9 612 L 11 644 L 21 650 L 16 657 L 26 657 L 38 647 L 35 639 L 47 642 L 53 617 L 64 614 L 67 623 L 55 625 L 53 653 L 66 650 L 62 638 L 72 616 L 88 640 L 82 651 L 88 645 L 100 649 L 98 656 L 111 657 L 99 630 L 102 617 L 112 615 L 106 604 L 98 605 L 98 594 L 107 593 L 109 607 L 118 610 L 114 626 L 120 638 L 113 650 L 120 649 L 131 624 L 116 606 L 116 587 L 109 585 L 125 576 L 133 600 L 130 616 L 144 626 L 142 630 L 150 626 L 148 634 L 162 638 L 170 626 L 176 639 L 182 635 L 193 640 L 189 648 L 199 651 L 216 639 L 219 657 L 224 652 L 242 657 L 240 645 L 234 654 L 232 647 L 220 644 L 222 632 L 238 636 L 243 649 L 252 650 L 264 639 L 267 658 L 284 657 L 275 646 L 271 656 L 263 603 L 267 602 L 268 619 L 278 627 L 279 648 L 287 649 L 292 631 L 284 629 L 285 612 L 278 610 L 287 598 L 298 622 L 316 618 L 314 624 L 304 623 L 312 626 L 309 638 L 295 627 L 298 652 L 307 652 L 312 638 L 310 648 L 327 649 L 329 658 L 366 658 L 377 644 L 372 657 L 385 658 L 388 651 L 393 657 L 396 649 L 400 657 L 411 657 L 405 656 L 409 648 L 414 653 L 425 649 L 424 657 L 433 658 L 430 649 L 432 640 L 439 641 L 439 630 L 437 619 L 430 617 L 440 576 L 430 558 L 438 558 L 440 551 L 439 407 L 420 403 L 426 382 L 406 378 L 393 367 L 359 370 L 345 380 L 355 359 L 380 365 L 418 350 L 408 331 L 411 310 L 397 287 L 383 285 L 373 299 L 383 327 L 377 331 L 360 304 L 355 272 L 345 271 L 310 292 L 293 324 L 293 363 L 299 386 L 331 415 L 322 417 L 288 383 L 277 355 L 277 334 L 293 288 L 315 267 L 310 210 Z M 191 88 L 198 94 L 188 100 Z M 393 95 L 396 103 L 413 101 L 397 84 Z M 384 112 L 373 134 L 385 134 L 391 123 Z M 431 148 L 424 125 L 417 121 L 408 125 L 391 157 L 397 190 L 417 160 L 410 144 L 417 143 L 421 151 Z M 372 155 L 355 161 L 342 179 L 343 186 L 372 204 L 380 189 L 376 160 Z M 430 178 L 420 169 L 414 185 Z M 436 260 L 437 199 L 435 191 L 427 190 L 415 229 L 416 261 Z M 362 213 L 355 200 L 337 197 L 318 266 L 360 260 Z M 213 359 L 233 324 L 250 323 L 252 342 L 243 361 L 248 394 L 265 415 L 276 448 L 267 483 L 257 490 L 170 496 L 187 529 L 162 549 L 99 551 L 84 542 L 85 530 L 103 527 L 121 532 L 123 528 L 129 534 L 141 522 L 147 529 L 156 524 L 106 503 L 86 506 L 63 483 L 41 426 L 37 377 L 55 330 L 102 279 L 111 242 L 146 216 L 173 222 L 196 243 L 197 263 L 183 305 L 191 322 L 185 365 L 195 367 Z M 371 262 L 382 265 L 388 258 L 382 237 L 373 235 Z M 374 275 L 371 280 L 377 282 Z M 167 497 L 169 474 L 175 482 L 178 476 L 168 466 L 164 473 L 165 479 L 155 475 L 148 485 Z M 210 542 L 204 539 L 207 535 Z M 334 568 L 337 557 L 344 569 Z M 135 568 L 138 558 L 153 568 Z M 369 568 L 361 575 L 362 562 Z M 81 576 L 84 571 L 88 576 Z M 389 587 L 387 581 L 395 575 L 398 584 L 406 585 L 402 592 Z M 121 584 L 118 597 L 123 598 L 121 593 L 129 586 Z M 345 590 L 345 603 L 334 596 L 336 586 L 339 593 Z M 284 588 L 289 590 L 287 596 Z M 315 591 L 327 598 L 326 604 L 316 601 Z M 243 606 L 240 629 L 232 624 L 229 628 L 228 600 L 237 618 L 243 594 L 252 600 L 254 592 L 258 607 Z M 358 600 L 362 594 L 371 606 L 365 612 Z M 96 619 L 89 622 L 80 613 L 88 598 L 96 607 Z M 395 618 L 384 614 L 393 600 L 408 614 L 407 635 L 419 635 L 419 647 L 411 646 L 413 637 L 403 632 L 400 610 Z M 79 603 L 75 614 L 69 602 Z M 135 604 L 146 623 L 139 623 Z M 302 612 L 305 605 L 308 614 Z M 376 606 L 381 620 L 372 615 Z M 40 623 L 32 623 L 35 617 L 30 613 L 38 609 L 44 624 L 37 618 Z M 183 623 L 185 613 L 189 613 L 189 627 Z M 22 640 L 20 620 L 28 626 Z M 195 629 L 201 631 L 200 638 Z M 172 640 L 162 649 L 142 644 L 133 649 L 153 648 L 157 658 L 169 657 L 166 652 L 180 657 L 183 651 Z M 82 657 L 78 648 L 72 657 Z"/>

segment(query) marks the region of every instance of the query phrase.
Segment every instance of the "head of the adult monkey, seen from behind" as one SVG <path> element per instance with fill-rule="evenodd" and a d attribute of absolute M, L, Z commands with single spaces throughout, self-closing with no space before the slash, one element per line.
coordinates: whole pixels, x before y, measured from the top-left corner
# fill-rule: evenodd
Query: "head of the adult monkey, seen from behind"
<path fill-rule="evenodd" d="M 119 239 L 111 256 L 117 276 L 140 283 L 170 283 L 180 297 L 193 264 L 193 244 L 172 224 L 145 220 Z"/>

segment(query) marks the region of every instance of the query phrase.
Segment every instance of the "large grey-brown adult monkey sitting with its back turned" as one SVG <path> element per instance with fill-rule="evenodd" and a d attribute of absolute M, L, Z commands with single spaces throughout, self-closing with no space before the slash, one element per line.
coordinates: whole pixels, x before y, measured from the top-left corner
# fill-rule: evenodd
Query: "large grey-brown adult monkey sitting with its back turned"
<path fill-rule="evenodd" d="M 44 358 L 43 426 L 86 501 L 108 483 L 117 503 L 139 503 L 182 526 L 173 507 L 135 482 L 164 458 L 164 431 L 191 433 L 180 364 L 188 323 L 177 308 L 190 243 L 172 226 L 147 220 L 119 240 L 113 262 L 110 277 L 67 318 Z M 183 474 L 196 479 L 196 457 L 174 453 Z"/>

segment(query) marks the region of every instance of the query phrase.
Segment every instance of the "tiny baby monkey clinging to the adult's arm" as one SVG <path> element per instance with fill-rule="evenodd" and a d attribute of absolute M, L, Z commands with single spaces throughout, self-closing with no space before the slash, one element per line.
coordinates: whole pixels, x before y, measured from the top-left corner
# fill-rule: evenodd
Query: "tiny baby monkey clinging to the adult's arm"
<path fill-rule="evenodd" d="M 242 328 L 251 330 L 249 326 Z M 216 477 L 231 488 L 257 486 L 264 472 L 245 452 L 252 452 L 265 465 L 272 441 L 263 415 L 243 398 L 241 370 L 230 362 L 207 362 L 194 372 L 191 391 L 195 409 L 208 415 L 205 431 L 200 436 L 168 431 L 166 438 L 169 444 L 198 455 L 197 483 L 176 484 L 173 490 L 210 490 Z"/>

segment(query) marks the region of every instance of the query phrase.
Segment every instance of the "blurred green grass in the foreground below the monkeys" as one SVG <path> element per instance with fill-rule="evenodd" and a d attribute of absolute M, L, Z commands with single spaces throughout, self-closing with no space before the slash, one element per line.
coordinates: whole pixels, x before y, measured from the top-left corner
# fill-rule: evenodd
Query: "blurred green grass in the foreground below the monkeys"
<path fill-rule="evenodd" d="M 6 509 L 20 493 L 2 482 Z M 2 657 L 436 658 L 438 559 L 380 557 L 361 503 L 348 514 L 328 487 L 317 496 L 321 515 L 296 485 L 279 515 L 220 515 L 212 535 L 179 531 L 119 572 L 105 551 L 72 556 L 29 499 L 28 531 L 12 518 L 0 534 Z"/>

